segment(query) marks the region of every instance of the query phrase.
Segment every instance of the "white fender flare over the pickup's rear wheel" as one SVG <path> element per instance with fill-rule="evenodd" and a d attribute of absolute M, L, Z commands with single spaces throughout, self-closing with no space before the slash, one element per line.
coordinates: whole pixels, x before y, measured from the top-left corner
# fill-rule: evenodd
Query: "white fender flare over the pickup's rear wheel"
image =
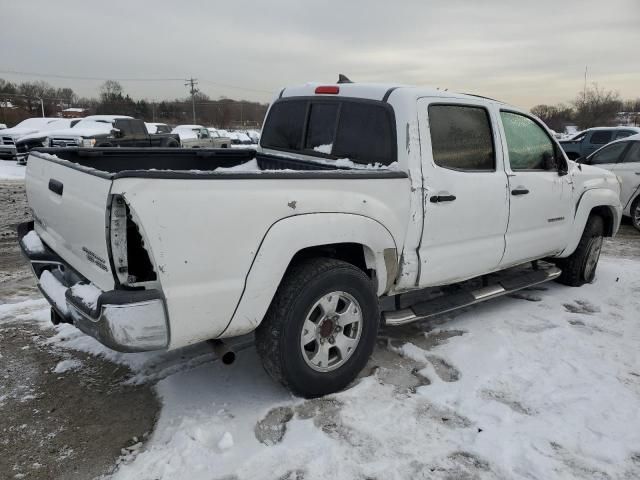
<path fill-rule="evenodd" d="M 397 272 L 397 246 L 389 230 L 378 221 L 349 213 L 309 213 L 283 218 L 269 228 L 253 259 L 244 290 L 231 321 L 220 337 L 249 333 L 262 321 L 294 255 L 309 247 L 358 243 L 365 249 L 367 266 L 379 279 L 377 294 L 390 285 L 387 275 Z M 389 249 L 394 252 L 390 259 Z M 393 282 L 395 278 L 391 280 Z"/>

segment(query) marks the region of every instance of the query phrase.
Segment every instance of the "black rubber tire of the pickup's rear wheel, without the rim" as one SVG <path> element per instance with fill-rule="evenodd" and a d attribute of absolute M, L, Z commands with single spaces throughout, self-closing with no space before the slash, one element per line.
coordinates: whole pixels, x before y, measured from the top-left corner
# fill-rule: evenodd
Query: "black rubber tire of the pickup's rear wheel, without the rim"
<path fill-rule="evenodd" d="M 362 330 L 345 363 L 320 372 L 303 357 L 302 328 L 314 305 L 332 292 L 345 292 L 356 300 Z M 371 279 L 350 263 L 314 258 L 288 270 L 256 330 L 256 348 L 264 369 L 274 380 L 296 395 L 318 397 L 339 391 L 356 378 L 371 356 L 379 323 L 378 299 Z"/>

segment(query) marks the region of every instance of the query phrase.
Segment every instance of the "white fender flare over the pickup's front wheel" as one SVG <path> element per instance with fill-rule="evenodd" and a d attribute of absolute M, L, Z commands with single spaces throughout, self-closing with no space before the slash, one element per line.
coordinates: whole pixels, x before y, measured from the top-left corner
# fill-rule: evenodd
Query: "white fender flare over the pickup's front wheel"
<path fill-rule="evenodd" d="M 587 225 L 589 215 L 596 207 L 607 207 L 611 211 L 613 217 L 613 235 L 615 235 L 622 217 L 620 197 L 613 190 L 607 188 L 587 190 L 580 196 L 578 204 L 576 205 L 569 243 L 558 257 L 568 257 L 575 251 L 578 243 L 580 243 L 580 238 L 582 238 L 582 232 L 584 232 L 584 228 Z"/>

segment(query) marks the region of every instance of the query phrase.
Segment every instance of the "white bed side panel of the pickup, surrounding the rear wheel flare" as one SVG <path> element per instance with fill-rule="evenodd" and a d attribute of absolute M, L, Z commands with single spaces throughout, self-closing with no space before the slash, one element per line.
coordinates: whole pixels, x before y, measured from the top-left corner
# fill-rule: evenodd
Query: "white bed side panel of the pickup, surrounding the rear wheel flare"
<path fill-rule="evenodd" d="M 345 174 L 345 177 L 348 174 Z M 338 213 L 368 217 L 403 244 L 410 185 L 390 179 L 148 179 L 121 178 L 112 193 L 124 195 L 145 238 L 167 299 L 170 347 L 218 337 L 225 331 L 267 231 L 287 217 Z M 355 224 L 354 224 L 355 225 Z M 353 237 L 355 238 L 355 231 Z M 288 264 L 300 237 L 349 241 L 322 221 L 291 232 Z M 322 244 L 322 243 L 320 243 Z M 273 290 L 281 274 L 266 278 Z M 274 287 L 275 286 L 275 287 Z M 249 295 L 251 292 L 245 292 Z M 267 304 L 261 308 L 266 310 Z"/>

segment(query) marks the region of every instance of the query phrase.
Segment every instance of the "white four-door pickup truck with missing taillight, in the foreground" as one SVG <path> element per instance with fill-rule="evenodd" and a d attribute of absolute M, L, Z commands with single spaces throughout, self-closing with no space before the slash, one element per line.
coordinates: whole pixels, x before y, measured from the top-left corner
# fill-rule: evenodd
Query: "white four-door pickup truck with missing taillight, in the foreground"
<path fill-rule="evenodd" d="M 120 351 L 255 332 L 307 397 L 348 385 L 381 324 L 592 281 L 621 216 L 616 176 L 537 118 L 393 85 L 286 88 L 257 151 L 41 149 L 26 188 L 55 322 Z"/>

